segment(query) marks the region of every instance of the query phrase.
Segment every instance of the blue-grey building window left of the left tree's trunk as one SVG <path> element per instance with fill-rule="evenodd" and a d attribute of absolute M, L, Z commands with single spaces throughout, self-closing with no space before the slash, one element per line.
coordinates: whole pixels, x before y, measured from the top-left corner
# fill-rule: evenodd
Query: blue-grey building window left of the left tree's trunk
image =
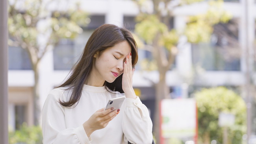
<path fill-rule="evenodd" d="M 30 58 L 26 50 L 9 46 L 9 70 L 32 70 Z"/>

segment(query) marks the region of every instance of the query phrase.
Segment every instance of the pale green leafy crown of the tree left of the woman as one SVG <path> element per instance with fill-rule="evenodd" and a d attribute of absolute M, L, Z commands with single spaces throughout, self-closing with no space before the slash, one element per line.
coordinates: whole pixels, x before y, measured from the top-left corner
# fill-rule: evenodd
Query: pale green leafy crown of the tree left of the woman
<path fill-rule="evenodd" d="M 42 0 L 9 2 L 9 35 L 22 48 L 38 49 L 40 34 L 48 37 L 46 46 L 54 46 L 59 39 L 76 37 L 83 31 L 81 26 L 89 23 L 88 14 L 80 10 L 79 5 L 67 11 L 50 11 L 47 6 Z"/>

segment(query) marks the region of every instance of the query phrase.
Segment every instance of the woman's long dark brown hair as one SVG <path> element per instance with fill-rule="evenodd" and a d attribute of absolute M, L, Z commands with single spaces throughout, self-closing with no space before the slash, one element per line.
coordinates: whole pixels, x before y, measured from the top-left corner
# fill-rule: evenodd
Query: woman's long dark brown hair
<path fill-rule="evenodd" d="M 66 90 L 72 89 L 71 96 L 67 102 L 59 100 L 61 105 L 70 107 L 76 104 L 76 102 L 79 102 L 83 85 L 88 79 L 93 68 L 93 56 L 96 52 L 102 53 L 107 48 L 111 48 L 122 41 L 127 41 L 132 48 L 132 66 L 134 67 L 138 60 L 138 53 L 137 44 L 132 33 L 126 28 L 119 28 L 113 24 L 103 24 L 96 28 L 87 41 L 82 56 L 72 68 L 70 77 L 59 86 L 68 86 Z M 116 78 L 113 83 L 105 81 L 104 86 L 108 87 L 110 90 L 124 93 L 122 90 L 122 75 Z"/>

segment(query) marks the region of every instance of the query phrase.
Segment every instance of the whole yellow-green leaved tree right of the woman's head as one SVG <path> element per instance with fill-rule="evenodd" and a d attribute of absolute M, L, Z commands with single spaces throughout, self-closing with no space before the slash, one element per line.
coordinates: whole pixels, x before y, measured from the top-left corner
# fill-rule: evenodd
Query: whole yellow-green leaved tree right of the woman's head
<path fill-rule="evenodd" d="M 176 7 L 200 2 L 202 0 L 134 0 L 137 2 L 140 14 L 135 25 L 135 33 L 146 43 L 143 47 L 152 53 L 152 61 L 159 72 L 159 81 L 156 87 L 156 108 L 154 116 L 154 135 L 160 140 L 159 104 L 162 99 L 169 98 L 169 87 L 166 85 L 166 73 L 174 63 L 178 52 L 177 45 L 180 36 L 186 35 L 191 43 L 210 40 L 213 26 L 219 22 L 228 22 L 231 16 L 223 10 L 223 1 L 210 1 L 209 9 L 205 14 L 189 17 L 184 31 L 170 27 L 170 19 Z M 147 6 L 152 4 L 152 11 Z M 148 4 L 148 5 L 147 5 Z M 151 61 L 151 62 L 152 62 Z"/>

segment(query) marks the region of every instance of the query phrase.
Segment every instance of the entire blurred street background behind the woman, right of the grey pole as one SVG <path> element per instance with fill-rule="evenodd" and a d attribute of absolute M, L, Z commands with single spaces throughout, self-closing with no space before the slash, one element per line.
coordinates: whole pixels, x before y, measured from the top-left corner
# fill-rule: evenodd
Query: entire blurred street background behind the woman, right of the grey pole
<path fill-rule="evenodd" d="M 41 109 L 91 33 L 132 31 L 134 90 L 156 144 L 256 144 L 255 0 L 9 0 L 9 144 L 41 144 Z"/>

